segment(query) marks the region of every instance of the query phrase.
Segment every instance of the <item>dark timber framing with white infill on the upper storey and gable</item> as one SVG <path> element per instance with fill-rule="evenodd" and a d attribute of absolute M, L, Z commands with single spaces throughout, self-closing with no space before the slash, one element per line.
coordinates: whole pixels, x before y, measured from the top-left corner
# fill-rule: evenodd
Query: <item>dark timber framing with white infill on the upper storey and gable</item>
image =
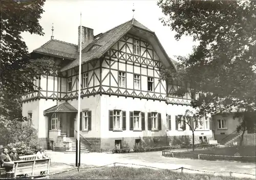
<path fill-rule="evenodd" d="M 139 55 L 133 53 L 134 40 L 139 41 Z M 191 90 L 188 89 L 183 97 L 170 95 L 184 84 L 160 81 L 160 71 L 164 65 L 150 42 L 134 34 L 125 34 L 106 51 L 104 56 L 88 61 L 81 67 L 81 75 L 88 73 L 88 85 L 85 88 L 80 85 L 81 98 L 106 94 L 190 106 Z M 119 87 L 119 72 L 125 73 L 125 87 Z M 134 75 L 140 77 L 140 89 L 134 87 Z M 68 79 L 70 78 L 72 85 L 71 90 L 68 91 Z M 153 79 L 153 91 L 147 89 L 147 78 Z M 59 101 L 78 98 L 78 66 L 58 72 L 58 74 L 55 72 L 46 74 L 37 81 L 39 82 L 36 84 L 44 88 L 41 88 L 37 94 L 24 95 L 23 102 L 40 98 L 58 99 Z"/>

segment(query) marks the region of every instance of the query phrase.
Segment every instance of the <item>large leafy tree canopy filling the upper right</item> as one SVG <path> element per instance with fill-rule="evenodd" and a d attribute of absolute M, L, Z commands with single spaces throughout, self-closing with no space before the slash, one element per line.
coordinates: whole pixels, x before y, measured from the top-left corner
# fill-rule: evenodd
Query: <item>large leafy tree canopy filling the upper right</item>
<path fill-rule="evenodd" d="M 183 95 L 187 87 L 200 93 L 191 105 L 201 115 L 255 112 L 256 2 L 160 0 L 158 6 L 176 40 L 188 35 L 199 42 L 187 57 L 178 57 L 178 74 L 169 69 L 161 74 L 189 82 L 175 93 Z"/>

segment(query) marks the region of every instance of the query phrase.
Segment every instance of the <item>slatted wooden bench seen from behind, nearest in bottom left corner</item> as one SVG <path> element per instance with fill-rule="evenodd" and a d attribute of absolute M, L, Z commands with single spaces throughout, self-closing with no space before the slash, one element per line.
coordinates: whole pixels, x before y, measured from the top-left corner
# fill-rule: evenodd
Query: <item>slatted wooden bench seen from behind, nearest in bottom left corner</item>
<path fill-rule="evenodd" d="M 17 175 L 28 174 L 28 176 L 38 175 L 48 177 L 51 159 L 14 161 L 12 163 L 12 171 L 6 172 L 9 176 L 13 175 L 13 177 L 16 177 Z"/>

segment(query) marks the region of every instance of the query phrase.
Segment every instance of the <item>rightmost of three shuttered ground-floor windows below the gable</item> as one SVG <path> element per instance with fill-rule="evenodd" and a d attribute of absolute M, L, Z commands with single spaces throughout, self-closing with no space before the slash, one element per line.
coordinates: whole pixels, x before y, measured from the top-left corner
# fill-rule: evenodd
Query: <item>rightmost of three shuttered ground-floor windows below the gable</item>
<path fill-rule="evenodd" d="M 148 130 L 158 131 L 162 129 L 161 113 L 147 113 Z"/>

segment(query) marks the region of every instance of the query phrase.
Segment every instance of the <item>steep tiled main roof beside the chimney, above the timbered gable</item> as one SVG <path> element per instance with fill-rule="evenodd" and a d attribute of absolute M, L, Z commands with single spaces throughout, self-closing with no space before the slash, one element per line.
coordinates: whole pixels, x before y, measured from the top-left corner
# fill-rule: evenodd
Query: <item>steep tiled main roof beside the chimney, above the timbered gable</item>
<path fill-rule="evenodd" d="M 81 63 L 83 64 L 87 61 L 100 58 L 103 54 L 106 53 L 106 51 L 111 46 L 113 46 L 133 26 L 152 32 L 150 29 L 146 28 L 144 25 L 142 25 L 136 19 L 131 19 L 127 22 L 124 22 L 124 23 L 118 25 L 117 27 L 103 33 L 102 35 L 99 36 L 99 38 L 96 38 L 86 48 L 84 48 L 82 50 Z M 94 45 L 97 45 L 97 47 L 90 50 L 90 48 Z M 71 62 L 70 64 L 63 67 L 61 69 L 61 71 L 65 71 L 67 69 L 76 67 L 78 65 L 79 65 L 79 57 L 77 57 L 77 59 L 74 60 L 73 62 Z"/>

